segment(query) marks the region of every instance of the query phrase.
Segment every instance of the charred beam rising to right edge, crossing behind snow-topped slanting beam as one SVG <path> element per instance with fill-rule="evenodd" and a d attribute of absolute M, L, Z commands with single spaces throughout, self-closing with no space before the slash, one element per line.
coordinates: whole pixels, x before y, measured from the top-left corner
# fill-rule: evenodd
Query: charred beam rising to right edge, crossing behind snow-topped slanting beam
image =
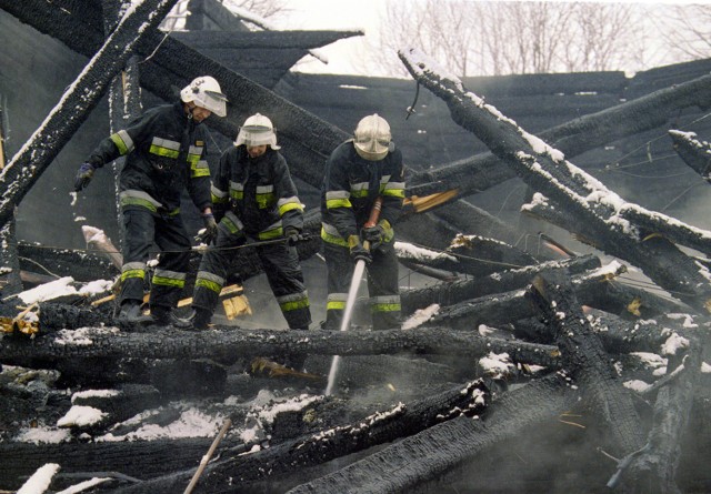
<path fill-rule="evenodd" d="M 572 158 L 604 143 L 655 129 L 674 118 L 680 108 L 711 105 L 711 75 L 703 75 L 597 113 L 580 117 L 539 133 L 545 142 Z M 458 196 L 487 190 L 515 177 L 493 153 L 475 155 L 418 173 L 409 191 L 428 195 L 457 189 Z"/>

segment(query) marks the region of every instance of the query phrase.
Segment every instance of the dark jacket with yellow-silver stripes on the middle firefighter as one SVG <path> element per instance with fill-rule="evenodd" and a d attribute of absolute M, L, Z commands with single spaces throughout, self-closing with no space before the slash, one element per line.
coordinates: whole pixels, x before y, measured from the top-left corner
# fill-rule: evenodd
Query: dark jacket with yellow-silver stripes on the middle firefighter
<path fill-rule="evenodd" d="M 244 232 L 260 240 L 281 236 L 283 230 L 303 228 L 303 205 L 297 196 L 287 160 L 271 148 L 250 159 L 244 145 L 232 147 L 220 158 L 212 180 L 212 202 L 221 223 L 232 234 Z"/>

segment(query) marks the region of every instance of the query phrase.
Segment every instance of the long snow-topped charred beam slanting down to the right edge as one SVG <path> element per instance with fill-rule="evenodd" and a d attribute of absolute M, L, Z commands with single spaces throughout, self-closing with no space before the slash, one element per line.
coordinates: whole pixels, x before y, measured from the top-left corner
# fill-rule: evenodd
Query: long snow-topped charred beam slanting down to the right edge
<path fill-rule="evenodd" d="M 430 70 L 424 54 L 412 49 L 399 54 L 411 74 L 447 102 L 457 123 L 479 137 L 530 186 L 544 192 L 559 208 L 575 216 L 578 223 L 587 226 L 590 236 L 604 242 L 605 252 L 641 268 L 673 296 L 708 312 L 707 306 L 711 308 L 709 278 L 673 243 L 641 238 L 634 225 L 620 221 L 615 215 L 624 204 L 620 196 L 565 161 L 559 150 L 529 134 L 495 108 L 464 90 L 461 81 Z M 709 88 L 697 90 L 709 91 Z"/>

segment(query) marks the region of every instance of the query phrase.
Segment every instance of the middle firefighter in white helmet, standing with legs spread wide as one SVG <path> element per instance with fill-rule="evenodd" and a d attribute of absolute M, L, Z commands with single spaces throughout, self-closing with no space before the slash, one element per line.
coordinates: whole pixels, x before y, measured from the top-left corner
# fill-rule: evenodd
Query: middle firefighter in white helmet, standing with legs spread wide
<path fill-rule="evenodd" d="M 279 149 L 271 120 L 257 113 L 244 121 L 234 145 L 220 158 L 212 181 L 212 201 L 220 220 L 218 235 L 214 248 L 200 262 L 187 329 L 208 326 L 231 274 L 231 259 L 240 252 L 231 248 L 248 241 L 256 243 L 289 327 L 309 329 L 309 295 L 296 249 L 302 238 L 303 205 Z"/>

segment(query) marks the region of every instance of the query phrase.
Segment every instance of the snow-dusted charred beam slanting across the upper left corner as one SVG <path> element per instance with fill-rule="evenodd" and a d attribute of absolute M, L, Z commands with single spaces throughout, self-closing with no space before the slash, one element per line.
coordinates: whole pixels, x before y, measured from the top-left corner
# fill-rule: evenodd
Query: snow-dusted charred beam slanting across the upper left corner
<path fill-rule="evenodd" d="M 0 224 L 12 218 L 13 209 L 79 130 L 113 77 L 151 32 L 149 28 L 156 29 L 176 1 L 146 0 L 127 11 L 117 29 L 62 95 L 42 125 L 0 173 L 0 188 L 6 191 L 0 200 Z M 158 42 L 150 46 L 154 48 Z"/>

